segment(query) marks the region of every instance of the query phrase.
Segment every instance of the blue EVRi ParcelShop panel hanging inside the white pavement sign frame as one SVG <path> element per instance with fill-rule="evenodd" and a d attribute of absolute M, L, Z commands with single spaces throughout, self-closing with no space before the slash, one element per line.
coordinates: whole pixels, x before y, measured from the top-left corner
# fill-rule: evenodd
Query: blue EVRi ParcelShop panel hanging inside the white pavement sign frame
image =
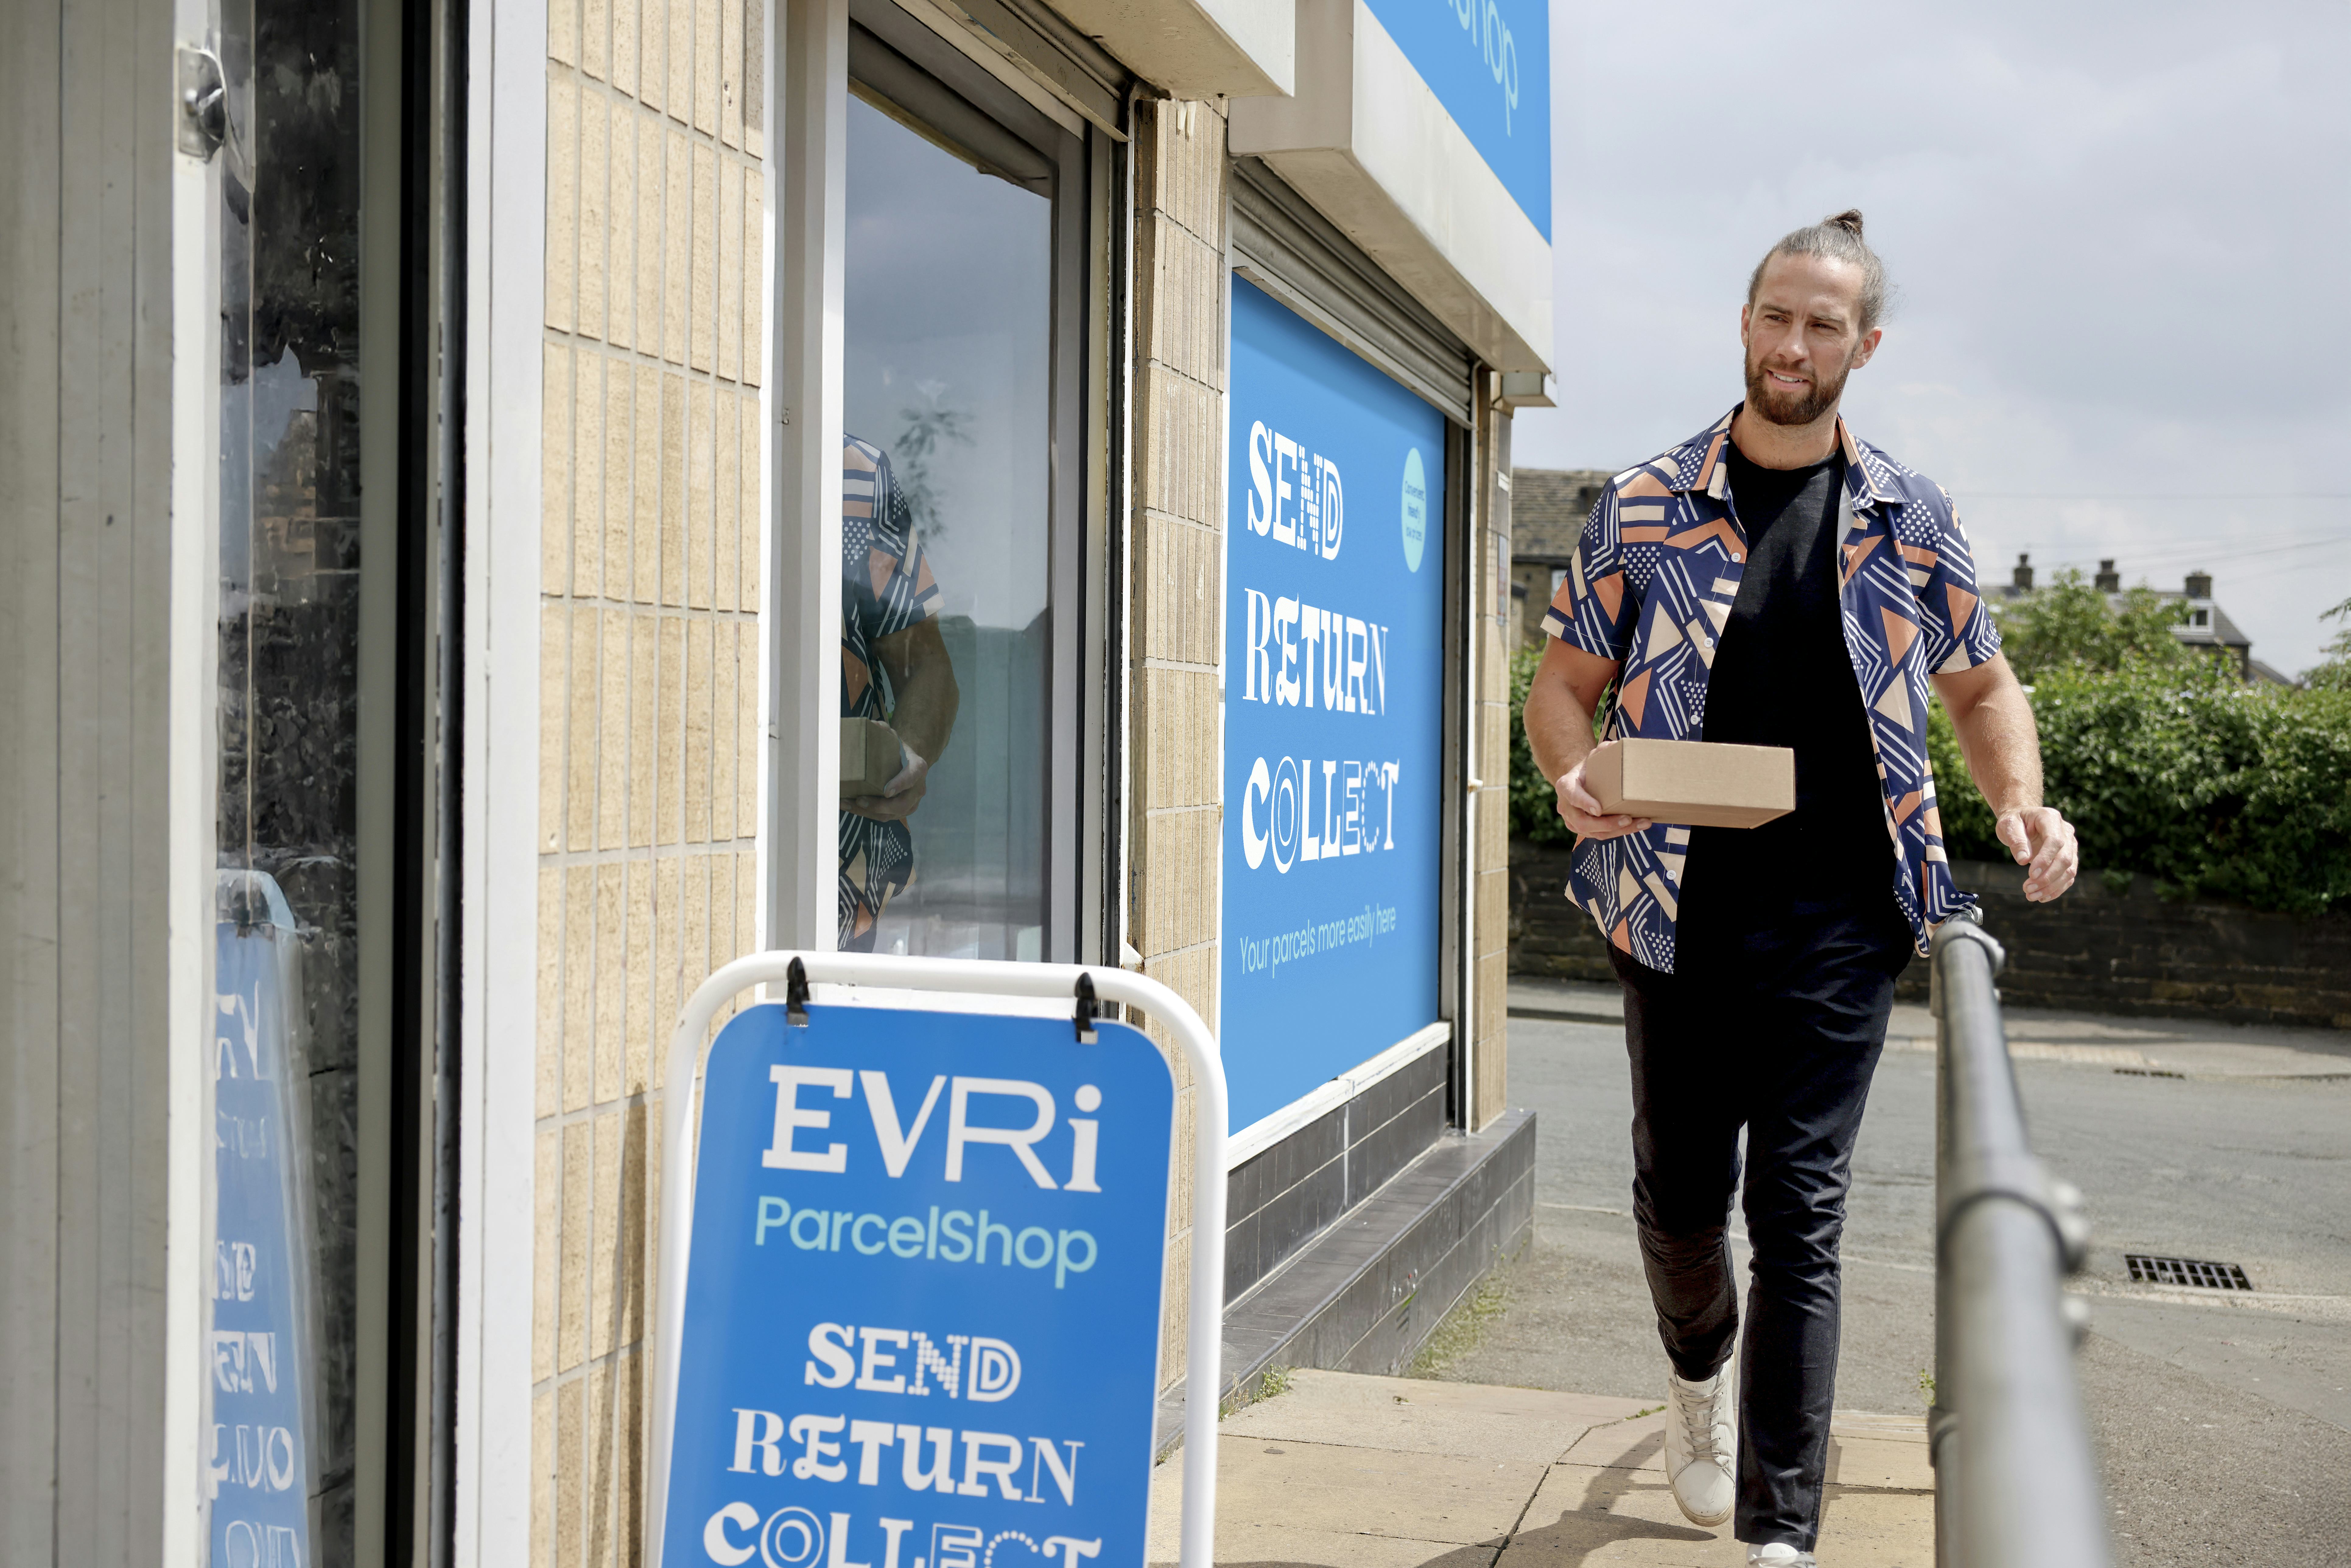
<path fill-rule="evenodd" d="M 1140 1568 L 1176 1084 L 1138 1030 L 710 1046 L 663 1568 Z"/>

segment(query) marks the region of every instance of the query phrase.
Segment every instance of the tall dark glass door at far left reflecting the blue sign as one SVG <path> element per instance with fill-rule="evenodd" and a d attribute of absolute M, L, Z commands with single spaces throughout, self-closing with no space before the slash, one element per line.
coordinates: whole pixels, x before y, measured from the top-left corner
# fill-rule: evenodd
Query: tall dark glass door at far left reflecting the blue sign
<path fill-rule="evenodd" d="M 216 0 L 209 45 L 183 56 L 221 317 L 197 1561 L 336 1568 L 360 1488 L 360 592 L 376 571 L 360 0 Z"/>

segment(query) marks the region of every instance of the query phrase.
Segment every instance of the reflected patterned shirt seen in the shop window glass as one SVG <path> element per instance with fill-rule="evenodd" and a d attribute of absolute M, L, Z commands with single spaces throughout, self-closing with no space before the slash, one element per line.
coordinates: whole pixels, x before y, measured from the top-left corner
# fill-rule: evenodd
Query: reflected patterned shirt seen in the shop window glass
<path fill-rule="evenodd" d="M 842 437 L 842 717 L 889 719 L 875 644 L 938 614 L 938 583 L 889 454 Z M 891 896 L 915 882 L 915 835 L 842 811 L 839 943 L 872 931 Z"/>

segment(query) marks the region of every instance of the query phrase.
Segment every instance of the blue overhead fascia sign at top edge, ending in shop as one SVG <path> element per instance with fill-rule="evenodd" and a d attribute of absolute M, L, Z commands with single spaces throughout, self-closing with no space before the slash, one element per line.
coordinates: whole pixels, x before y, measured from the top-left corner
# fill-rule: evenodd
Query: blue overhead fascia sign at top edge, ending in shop
<path fill-rule="evenodd" d="M 1552 237 L 1547 0 L 1364 0 L 1502 188 Z"/>

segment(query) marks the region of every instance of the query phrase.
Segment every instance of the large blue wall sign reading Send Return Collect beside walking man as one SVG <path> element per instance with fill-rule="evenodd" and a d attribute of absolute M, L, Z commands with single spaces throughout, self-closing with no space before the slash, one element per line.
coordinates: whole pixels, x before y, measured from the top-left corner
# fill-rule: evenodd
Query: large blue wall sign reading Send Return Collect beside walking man
<path fill-rule="evenodd" d="M 1232 1131 L 1436 1020 L 1446 421 L 1232 280 Z"/>

